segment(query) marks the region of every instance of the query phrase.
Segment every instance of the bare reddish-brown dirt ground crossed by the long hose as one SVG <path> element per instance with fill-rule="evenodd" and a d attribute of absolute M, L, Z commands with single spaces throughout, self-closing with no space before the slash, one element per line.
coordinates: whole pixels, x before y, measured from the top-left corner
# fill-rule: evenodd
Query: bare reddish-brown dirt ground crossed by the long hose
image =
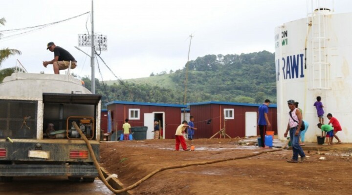
<path fill-rule="evenodd" d="M 175 140 L 101 143 L 100 164 L 127 187 L 157 168 L 253 155 L 268 149 L 239 139 L 197 139 L 195 151 L 175 151 Z M 285 143 L 282 143 L 284 145 Z M 343 144 L 340 144 L 341 146 Z M 274 144 L 275 146 L 275 144 Z M 188 144 L 189 147 L 189 144 Z M 157 173 L 133 195 L 351 195 L 349 151 L 305 150 L 304 163 L 287 163 L 292 150 Z M 325 157 L 325 159 L 319 159 Z"/>

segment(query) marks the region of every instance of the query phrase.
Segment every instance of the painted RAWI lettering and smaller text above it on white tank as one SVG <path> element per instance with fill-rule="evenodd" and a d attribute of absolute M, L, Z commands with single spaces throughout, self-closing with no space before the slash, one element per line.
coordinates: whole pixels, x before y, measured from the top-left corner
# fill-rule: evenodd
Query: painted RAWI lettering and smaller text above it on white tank
<path fill-rule="evenodd" d="M 281 45 L 288 45 L 288 33 L 281 32 Z M 275 48 L 280 47 L 280 34 L 275 35 Z M 290 56 L 282 56 L 281 59 L 275 60 L 276 66 L 276 80 L 280 79 L 280 72 L 283 74 L 284 79 L 304 78 L 303 64 L 304 54 L 295 54 Z"/>

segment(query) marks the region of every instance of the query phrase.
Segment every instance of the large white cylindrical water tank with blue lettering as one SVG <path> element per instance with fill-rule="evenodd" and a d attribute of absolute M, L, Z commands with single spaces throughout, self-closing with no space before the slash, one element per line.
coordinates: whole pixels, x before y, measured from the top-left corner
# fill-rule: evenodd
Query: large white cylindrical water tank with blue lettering
<path fill-rule="evenodd" d="M 321 135 L 313 106 L 322 98 L 324 123 L 331 113 L 342 126 L 337 136 L 352 142 L 352 13 L 333 14 L 325 7 L 312 9 L 305 19 L 275 28 L 278 136 L 284 138 L 288 122 L 287 100 L 299 102 L 308 121 L 306 141 Z M 336 139 L 334 139 L 336 141 Z"/>

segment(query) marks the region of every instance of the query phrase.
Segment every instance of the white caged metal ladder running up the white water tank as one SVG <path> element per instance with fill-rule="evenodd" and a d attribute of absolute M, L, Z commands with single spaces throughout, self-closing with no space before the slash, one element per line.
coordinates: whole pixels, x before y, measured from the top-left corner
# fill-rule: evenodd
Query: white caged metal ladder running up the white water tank
<path fill-rule="evenodd" d="M 312 9 L 307 16 L 308 28 L 311 28 L 308 36 L 310 37 L 308 43 L 309 89 L 330 89 L 330 63 L 327 60 L 329 38 L 326 12 L 328 10 L 326 8 Z"/>

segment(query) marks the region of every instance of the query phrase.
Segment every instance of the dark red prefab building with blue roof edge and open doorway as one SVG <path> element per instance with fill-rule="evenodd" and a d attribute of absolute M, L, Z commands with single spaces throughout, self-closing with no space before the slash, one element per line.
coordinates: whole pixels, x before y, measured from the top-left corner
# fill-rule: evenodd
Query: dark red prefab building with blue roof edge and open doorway
<path fill-rule="evenodd" d="M 163 138 L 174 138 L 177 126 L 181 124 L 181 109 L 187 107 L 179 104 L 130 101 L 111 101 L 106 106 L 111 113 L 113 131 L 122 130 L 125 118 L 128 118 L 132 127 L 148 127 L 147 139 L 153 139 L 154 120 L 160 121 Z"/>

